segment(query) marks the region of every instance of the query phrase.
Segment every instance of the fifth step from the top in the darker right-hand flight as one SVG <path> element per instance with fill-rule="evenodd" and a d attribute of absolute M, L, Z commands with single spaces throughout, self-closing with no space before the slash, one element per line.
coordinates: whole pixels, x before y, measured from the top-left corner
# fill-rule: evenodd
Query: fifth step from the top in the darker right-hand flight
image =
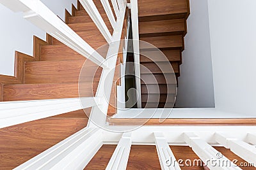
<path fill-rule="evenodd" d="M 161 73 L 179 73 L 179 63 L 178 62 L 150 62 L 150 63 L 141 63 L 143 66 L 141 66 L 141 74 L 145 74 L 145 73 L 157 73 L 157 74 L 161 74 Z M 173 68 L 173 69 L 172 69 Z"/>

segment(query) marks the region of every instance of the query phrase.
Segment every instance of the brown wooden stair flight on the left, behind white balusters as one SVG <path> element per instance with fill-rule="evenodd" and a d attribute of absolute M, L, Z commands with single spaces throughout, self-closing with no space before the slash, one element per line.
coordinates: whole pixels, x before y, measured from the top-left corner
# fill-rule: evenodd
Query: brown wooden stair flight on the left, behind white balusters
<path fill-rule="evenodd" d="M 65 22 L 95 50 L 108 44 L 90 16 L 77 3 L 72 6 L 72 15 L 66 10 Z M 100 3 L 97 8 L 113 33 L 113 28 Z M 108 47 L 108 45 L 106 45 Z M 98 52 L 106 57 L 108 48 Z M 47 34 L 47 41 L 34 38 L 34 57 L 16 52 L 15 70 L 20 82 L 3 82 L 3 101 L 29 101 L 41 99 L 65 99 L 95 96 L 102 68 L 79 53 Z M 116 113 L 116 85 L 120 85 L 120 57 L 116 62 L 115 78 L 109 101 L 108 115 Z M 79 81 L 80 71 L 85 63 L 86 73 Z M 24 67 L 24 70 L 23 70 Z M 120 66 L 119 66 L 120 67 Z M 97 71 L 96 71 L 97 70 Z M 96 73 L 94 74 L 94 71 Z M 1 76 L 2 80 L 4 77 Z M 6 78 L 8 80 L 8 78 Z M 10 78 L 9 78 L 10 80 Z M 80 89 L 80 93 L 79 93 Z M 1 94 L 1 93 L 0 93 Z M 1 96 L 2 97 L 2 96 Z M 54 117 L 43 118 L 0 130 L 0 169 L 12 169 L 35 157 L 47 148 L 86 127 L 92 108 L 72 111 Z M 51 110 L 51 108 L 49 108 Z M 86 113 L 84 113 L 86 111 Z M 6 147 L 8 143 L 8 147 Z"/>

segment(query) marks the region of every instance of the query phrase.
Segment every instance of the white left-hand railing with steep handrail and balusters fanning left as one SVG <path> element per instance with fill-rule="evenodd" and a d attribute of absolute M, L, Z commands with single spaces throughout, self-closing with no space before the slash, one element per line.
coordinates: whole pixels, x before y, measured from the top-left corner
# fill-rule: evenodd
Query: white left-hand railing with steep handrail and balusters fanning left
<path fill-rule="evenodd" d="M 93 1 L 79 1 L 109 43 L 106 59 L 94 50 L 92 46 L 88 45 L 86 41 L 68 27 L 65 22 L 49 10 L 40 0 L 0 0 L 0 3 L 10 8 L 10 10 L 15 12 L 21 11 L 24 13 L 26 20 L 29 20 L 32 24 L 35 24 L 52 37 L 61 41 L 61 43 L 69 46 L 87 59 L 92 60 L 97 66 L 103 68 L 95 97 L 84 97 L 81 100 L 77 98 L 2 102 L 0 103 L 0 127 L 8 127 L 10 125 L 21 124 L 90 107 L 93 108 L 88 125 L 93 125 L 91 122 L 99 123 L 99 125 L 106 123 L 127 2 L 123 0 L 112 1 L 115 8 L 116 4 L 118 4 L 118 10 L 117 8 L 115 10 L 118 14 L 116 15 L 115 24 L 113 24 L 113 26 L 115 26 L 113 35 L 111 35 Z M 113 18 L 113 13 L 109 10 L 110 4 L 106 1 L 102 1 L 102 5 L 107 13 L 111 13 L 108 16 Z M 81 106 L 81 101 L 83 101 L 83 106 Z"/>

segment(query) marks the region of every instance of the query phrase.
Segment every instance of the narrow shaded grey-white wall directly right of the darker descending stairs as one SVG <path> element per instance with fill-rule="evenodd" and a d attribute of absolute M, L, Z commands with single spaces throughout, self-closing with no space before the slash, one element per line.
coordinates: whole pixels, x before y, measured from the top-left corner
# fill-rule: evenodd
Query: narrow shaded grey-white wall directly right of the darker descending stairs
<path fill-rule="evenodd" d="M 188 34 L 182 52 L 177 107 L 214 107 L 207 5 L 205 0 L 190 0 L 191 14 L 187 20 Z"/>

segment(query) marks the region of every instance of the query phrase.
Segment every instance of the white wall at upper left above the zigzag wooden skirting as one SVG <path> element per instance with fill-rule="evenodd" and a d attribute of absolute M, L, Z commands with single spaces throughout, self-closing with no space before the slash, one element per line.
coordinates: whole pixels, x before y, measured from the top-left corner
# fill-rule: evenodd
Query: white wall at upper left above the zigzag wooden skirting
<path fill-rule="evenodd" d="M 42 0 L 56 15 L 64 20 L 65 8 L 71 12 L 76 0 Z M 33 35 L 45 39 L 45 32 L 22 18 L 22 13 L 13 13 L 0 4 L 0 74 L 13 76 L 15 50 L 33 55 Z"/>

